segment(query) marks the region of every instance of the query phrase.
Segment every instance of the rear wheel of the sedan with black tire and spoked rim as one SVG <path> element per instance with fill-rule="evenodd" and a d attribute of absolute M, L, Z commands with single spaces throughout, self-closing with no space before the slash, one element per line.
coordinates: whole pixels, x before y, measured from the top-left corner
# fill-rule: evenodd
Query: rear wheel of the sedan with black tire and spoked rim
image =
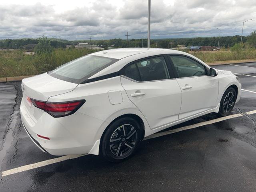
<path fill-rule="evenodd" d="M 140 143 L 140 124 L 130 117 L 115 120 L 102 137 L 102 155 L 110 162 L 128 159 Z"/>

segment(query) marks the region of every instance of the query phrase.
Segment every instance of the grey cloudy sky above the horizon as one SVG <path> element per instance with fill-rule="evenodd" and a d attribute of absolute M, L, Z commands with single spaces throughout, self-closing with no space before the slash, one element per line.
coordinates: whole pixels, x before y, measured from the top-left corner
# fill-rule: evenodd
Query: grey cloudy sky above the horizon
<path fill-rule="evenodd" d="M 147 0 L 0 1 L 0 39 L 146 38 Z M 203 37 L 256 30 L 256 0 L 152 0 L 152 38 Z"/>

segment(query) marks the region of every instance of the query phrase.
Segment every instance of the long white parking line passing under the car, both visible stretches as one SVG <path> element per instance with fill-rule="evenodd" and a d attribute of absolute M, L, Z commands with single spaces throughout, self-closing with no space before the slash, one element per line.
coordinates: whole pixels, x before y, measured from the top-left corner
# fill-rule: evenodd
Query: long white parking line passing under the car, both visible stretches
<path fill-rule="evenodd" d="M 246 112 L 246 114 L 248 114 L 248 115 L 255 114 L 255 113 L 256 113 L 256 110 Z M 193 128 L 197 128 L 197 127 L 200 127 L 200 126 L 209 125 L 209 124 L 213 124 L 213 123 L 216 123 L 216 122 L 220 122 L 220 121 L 224 121 L 224 120 L 232 119 L 232 118 L 236 118 L 236 117 L 241 117 L 241 116 L 243 116 L 243 115 L 240 114 L 240 113 L 239 114 L 233 114 L 233 115 L 229 115 L 229 116 L 226 116 L 226 117 L 220 117 L 220 118 L 217 118 L 217 119 L 213 119 L 213 120 L 209 120 L 209 121 L 205 121 L 205 122 L 196 123 L 196 124 L 193 124 L 193 125 L 180 127 L 180 128 L 173 129 L 173 130 L 168 130 L 168 131 L 165 131 L 165 132 L 159 132 L 159 133 L 155 133 L 155 134 L 152 134 L 150 136 L 147 136 L 146 138 L 144 138 L 144 140 L 157 138 L 157 137 L 160 137 L 160 136 L 173 134 L 173 133 L 176 133 L 176 132 L 180 132 L 180 131 L 184 131 L 184 130 L 188 130 L 188 129 L 193 129 Z M 49 159 L 49 160 L 41 161 L 41 162 L 38 162 L 38 163 L 24 165 L 24 166 L 21 166 L 21 167 L 18 167 L 18 168 L 13 168 L 13 169 L 10 169 L 10 170 L 6 170 L 6 171 L 1 172 L 1 174 L 4 177 L 4 176 L 11 175 L 11 174 L 15 174 L 15 173 L 24 172 L 24 171 L 27 171 L 27 170 L 39 168 L 39 167 L 42 167 L 42 166 L 47 166 L 47 165 L 54 164 L 54 163 L 57 163 L 57 162 L 62 162 L 62 161 L 66 161 L 66 160 L 69 160 L 69 159 L 82 157 L 82 156 L 85 156 L 85 155 L 88 155 L 88 154 L 66 155 L 66 156 L 62 156 L 62 157 L 58 157 L 58 158 L 54 158 L 54 159 Z"/>

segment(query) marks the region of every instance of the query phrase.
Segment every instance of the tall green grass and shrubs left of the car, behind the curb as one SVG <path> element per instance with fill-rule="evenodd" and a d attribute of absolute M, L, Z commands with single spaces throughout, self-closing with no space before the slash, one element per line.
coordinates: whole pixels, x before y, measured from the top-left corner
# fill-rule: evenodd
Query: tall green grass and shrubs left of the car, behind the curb
<path fill-rule="evenodd" d="M 0 77 L 41 74 L 81 56 L 90 49 L 55 49 L 51 55 L 23 55 L 22 50 L 0 51 Z"/>

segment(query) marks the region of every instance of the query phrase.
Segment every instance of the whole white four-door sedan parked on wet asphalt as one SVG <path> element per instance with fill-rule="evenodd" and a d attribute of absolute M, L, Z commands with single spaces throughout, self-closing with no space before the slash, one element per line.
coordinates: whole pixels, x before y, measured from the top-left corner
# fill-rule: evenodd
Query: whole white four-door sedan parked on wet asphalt
<path fill-rule="evenodd" d="M 42 151 L 119 162 L 160 130 L 212 112 L 229 115 L 241 84 L 185 52 L 127 48 L 26 78 L 22 91 L 22 123 Z"/>

